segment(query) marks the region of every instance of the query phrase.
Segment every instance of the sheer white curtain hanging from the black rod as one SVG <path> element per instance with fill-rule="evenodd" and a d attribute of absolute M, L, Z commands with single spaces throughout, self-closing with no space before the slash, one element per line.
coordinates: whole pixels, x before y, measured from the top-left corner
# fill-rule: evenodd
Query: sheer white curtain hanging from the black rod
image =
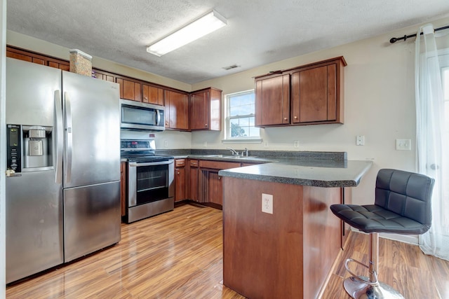
<path fill-rule="evenodd" d="M 435 179 L 432 225 L 420 235 L 420 248 L 449 260 L 449 50 L 443 48 L 449 48 L 447 32 L 438 36 L 432 25 L 420 27 L 415 41 L 417 167 Z"/>

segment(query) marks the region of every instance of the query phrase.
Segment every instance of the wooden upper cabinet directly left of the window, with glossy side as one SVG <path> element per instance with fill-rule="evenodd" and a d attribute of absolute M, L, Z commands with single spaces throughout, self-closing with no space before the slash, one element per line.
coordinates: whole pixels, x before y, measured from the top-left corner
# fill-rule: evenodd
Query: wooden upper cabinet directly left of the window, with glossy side
<path fill-rule="evenodd" d="M 220 131 L 222 90 L 206 88 L 190 95 L 190 130 Z"/>

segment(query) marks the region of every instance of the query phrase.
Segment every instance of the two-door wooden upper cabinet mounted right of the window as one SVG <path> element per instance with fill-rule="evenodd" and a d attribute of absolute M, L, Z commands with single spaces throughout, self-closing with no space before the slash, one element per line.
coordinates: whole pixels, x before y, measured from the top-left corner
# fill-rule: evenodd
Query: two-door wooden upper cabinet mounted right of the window
<path fill-rule="evenodd" d="M 344 57 L 255 78 L 255 125 L 343 123 Z"/>

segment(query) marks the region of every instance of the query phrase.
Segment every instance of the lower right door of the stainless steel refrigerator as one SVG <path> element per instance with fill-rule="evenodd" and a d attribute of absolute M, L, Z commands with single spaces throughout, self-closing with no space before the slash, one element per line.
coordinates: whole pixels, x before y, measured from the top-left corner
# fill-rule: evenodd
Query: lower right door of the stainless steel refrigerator
<path fill-rule="evenodd" d="M 64 189 L 64 260 L 120 241 L 120 182 Z"/>

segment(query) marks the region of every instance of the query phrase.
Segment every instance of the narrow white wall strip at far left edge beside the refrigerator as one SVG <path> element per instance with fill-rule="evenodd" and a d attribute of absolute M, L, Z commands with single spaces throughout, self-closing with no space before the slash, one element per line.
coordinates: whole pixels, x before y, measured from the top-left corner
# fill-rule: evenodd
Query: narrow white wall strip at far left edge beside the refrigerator
<path fill-rule="evenodd" d="M 6 298 L 6 219 L 5 219 L 5 170 L 6 170 L 6 120 L 5 120 L 5 61 L 6 61 L 6 0 L 0 0 L 0 298 Z"/>

